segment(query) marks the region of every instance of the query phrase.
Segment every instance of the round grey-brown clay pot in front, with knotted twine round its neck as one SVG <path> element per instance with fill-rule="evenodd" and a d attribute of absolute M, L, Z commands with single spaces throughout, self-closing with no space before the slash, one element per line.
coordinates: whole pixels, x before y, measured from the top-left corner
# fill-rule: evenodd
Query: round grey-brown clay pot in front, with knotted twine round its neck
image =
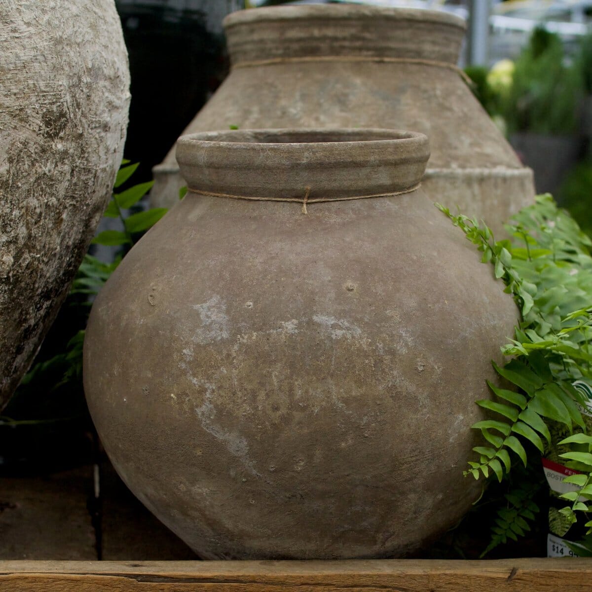
<path fill-rule="evenodd" d="M 402 555 L 453 525 L 517 310 L 417 189 L 426 137 L 202 133 L 178 158 L 200 193 L 134 246 L 86 333 L 128 487 L 205 558 Z"/>

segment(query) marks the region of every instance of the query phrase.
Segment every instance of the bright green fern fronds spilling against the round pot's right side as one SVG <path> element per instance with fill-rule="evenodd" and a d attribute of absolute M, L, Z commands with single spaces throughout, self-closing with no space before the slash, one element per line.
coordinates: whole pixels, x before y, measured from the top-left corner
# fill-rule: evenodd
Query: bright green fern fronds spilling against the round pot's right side
<path fill-rule="evenodd" d="M 465 475 L 479 479 L 492 474 L 501 481 L 513 459 L 526 466 L 532 449 L 543 453 L 552 443 L 550 428 L 561 424 L 570 436 L 559 442 L 568 448 L 559 456 L 568 467 L 582 471 L 565 481 L 579 491 L 562 496 L 571 505 L 561 513 L 574 523 L 578 513 L 590 511 L 581 499 L 592 499 L 592 449 L 581 413 L 587 395 L 573 385 L 577 380 L 592 384 L 592 242 L 550 195 L 539 196 L 534 205 L 514 216 L 507 226 L 511 240 L 497 242 L 477 220 L 438 207 L 483 253 L 482 262 L 493 264 L 494 274 L 522 312 L 515 339 L 502 348 L 512 359 L 503 367 L 494 364 L 516 390 L 489 384 L 493 399 L 477 401 L 493 415 L 472 426 L 485 442 L 474 448 L 478 456 L 469 461 Z M 574 429 L 579 433 L 574 434 Z M 514 535 L 524 532 L 530 513 L 520 514 L 520 507 L 498 510 L 488 549 L 504 537 L 512 538 L 510 530 Z M 585 524 L 592 532 L 592 521 Z"/>

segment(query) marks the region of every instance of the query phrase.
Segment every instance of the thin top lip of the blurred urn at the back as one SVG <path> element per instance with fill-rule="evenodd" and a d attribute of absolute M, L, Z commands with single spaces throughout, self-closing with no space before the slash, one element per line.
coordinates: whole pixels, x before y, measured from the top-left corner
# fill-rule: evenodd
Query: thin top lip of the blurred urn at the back
<path fill-rule="evenodd" d="M 394 20 L 435 22 L 466 29 L 464 18 L 451 12 L 430 10 L 427 8 L 395 8 L 356 4 L 306 4 L 299 6 L 275 6 L 249 8 L 231 12 L 224 17 L 225 29 L 262 21 L 323 21 L 326 18 L 340 20 Z"/>

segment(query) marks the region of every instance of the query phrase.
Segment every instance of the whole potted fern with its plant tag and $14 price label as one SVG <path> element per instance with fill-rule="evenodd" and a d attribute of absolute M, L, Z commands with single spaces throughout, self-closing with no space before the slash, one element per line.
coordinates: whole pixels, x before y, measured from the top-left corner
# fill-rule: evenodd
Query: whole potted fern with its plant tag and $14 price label
<path fill-rule="evenodd" d="M 511 238 L 497 242 L 477 220 L 440 209 L 522 311 L 502 348 L 509 362 L 495 366 L 508 388 L 490 385 L 494 400 L 476 402 L 490 417 L 472 426 L 483 442 L 465 474 L 509 484 L 481 501 L 491 525 L 481 555 L 542 517 L 547 555 L 592 556 L 592 241 L 550 195 L 515 215 Z"/>

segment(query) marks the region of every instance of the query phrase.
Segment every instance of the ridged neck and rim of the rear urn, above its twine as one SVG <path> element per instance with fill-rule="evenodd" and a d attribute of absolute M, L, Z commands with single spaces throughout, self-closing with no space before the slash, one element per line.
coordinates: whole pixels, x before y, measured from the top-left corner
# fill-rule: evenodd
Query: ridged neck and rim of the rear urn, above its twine
<path fill-rule="evenodd" d="M 233 65 L 329 56 L 456 64 L 465 24 L 424 9 L 304 5 L 234 12 L 224 28 Z"/>

